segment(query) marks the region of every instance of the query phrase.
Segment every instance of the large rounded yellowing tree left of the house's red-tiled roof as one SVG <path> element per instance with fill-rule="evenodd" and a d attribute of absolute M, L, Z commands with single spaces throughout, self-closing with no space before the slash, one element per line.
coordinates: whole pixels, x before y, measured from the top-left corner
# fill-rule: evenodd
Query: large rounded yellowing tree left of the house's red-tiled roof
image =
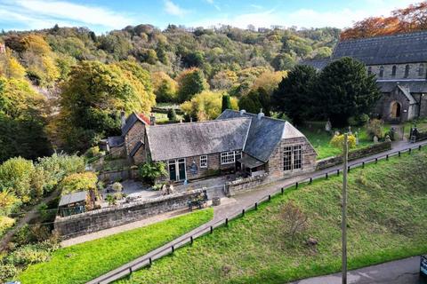
<path fill-rule="evenodd" d="M 60 146 L 85 152 L 100 138 L 120 133 L 121 109 L 147 113 L 154 102 L 149 74 L 137 64 L 83 61 L 61 85 L 61 109 L 54 125 Z"/>

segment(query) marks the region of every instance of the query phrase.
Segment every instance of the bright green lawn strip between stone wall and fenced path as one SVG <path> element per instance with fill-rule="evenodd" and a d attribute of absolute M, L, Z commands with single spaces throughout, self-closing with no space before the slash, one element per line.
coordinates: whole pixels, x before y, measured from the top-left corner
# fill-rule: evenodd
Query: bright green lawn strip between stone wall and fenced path
<path fill-rule="evenodd" d="M 19 280 L 22 284 L 85 283 L 205 224 L 213 216 L 213 209 L 200 210 L 125 233 L 60 248 L 49 262 L 31 265 L 20 273 Z"/>

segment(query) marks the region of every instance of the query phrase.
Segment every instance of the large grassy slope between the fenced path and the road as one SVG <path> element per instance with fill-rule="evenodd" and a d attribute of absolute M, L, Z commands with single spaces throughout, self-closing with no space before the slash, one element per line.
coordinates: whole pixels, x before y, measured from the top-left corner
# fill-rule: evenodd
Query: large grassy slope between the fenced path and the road
<path fill-rule="evenodd" d="M 427 148 L 350 171 L 349 267 L 427 252 Z M 289 190 L 258 210 L 134 272 L 119 283 L 286 283 L 341 268 L 342 176 Z M 309 217 L 294 241 L 280 206 L 294 200 Z M 316 247 L 306 244 L 309 237 Z"/>

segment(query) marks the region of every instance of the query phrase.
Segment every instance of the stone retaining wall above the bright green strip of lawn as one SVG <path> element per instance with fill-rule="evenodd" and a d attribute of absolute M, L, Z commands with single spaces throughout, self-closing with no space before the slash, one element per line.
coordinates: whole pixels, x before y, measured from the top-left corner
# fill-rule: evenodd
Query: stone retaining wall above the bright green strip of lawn
<path fill-rule="evenodd" d="M 121 204 L 68 217 L 56 217 L 54 228 L 63 239 L 101 231 L 168 211 L 184 209 L 188 206 L 188 201 L 197 197 L 203 190 L 202 188 L 187 193 Z"/>

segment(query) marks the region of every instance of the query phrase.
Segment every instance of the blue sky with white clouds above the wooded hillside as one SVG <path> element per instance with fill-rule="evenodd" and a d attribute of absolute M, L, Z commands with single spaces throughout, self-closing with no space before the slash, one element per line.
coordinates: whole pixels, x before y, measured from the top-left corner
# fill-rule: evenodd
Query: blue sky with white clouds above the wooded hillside
<path fill-rule="evenodd" d="M 246 28 L 271 25 L 346 28 L 368 16 L 387 16 L 413 0 L 0 0 L 0 28 L 91 28 L 97 34 L 149 23 Z"/>

